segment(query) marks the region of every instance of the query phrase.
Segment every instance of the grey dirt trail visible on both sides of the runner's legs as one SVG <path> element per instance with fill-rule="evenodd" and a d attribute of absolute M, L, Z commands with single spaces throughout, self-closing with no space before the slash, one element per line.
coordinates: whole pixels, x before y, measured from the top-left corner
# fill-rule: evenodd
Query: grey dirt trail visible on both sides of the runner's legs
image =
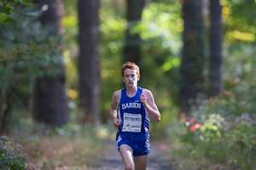
<path fill-rule="evenodd" d="M 89 167 L 89 170 L 123 170 L 121 158 L 113 142 L 106 144 L 108 149 L 104 152 L 101 161 Z M 165 142 L 151 142 L 147 170 L 175 170 L 170 161 L 170 148 Z"/>

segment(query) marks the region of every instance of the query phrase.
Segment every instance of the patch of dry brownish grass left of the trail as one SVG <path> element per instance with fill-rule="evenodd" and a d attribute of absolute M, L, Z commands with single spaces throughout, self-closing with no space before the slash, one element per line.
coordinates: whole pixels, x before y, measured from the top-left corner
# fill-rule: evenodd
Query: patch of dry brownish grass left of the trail
<path fill-rule="evenodd" d="M 45 136 L 26 144 L 29 142 L 23 141 L 22 145 L 27 153 L 28 166 L 36 169 L 87 167 L 100 155 L 101 146 L 83 137 Z"/>

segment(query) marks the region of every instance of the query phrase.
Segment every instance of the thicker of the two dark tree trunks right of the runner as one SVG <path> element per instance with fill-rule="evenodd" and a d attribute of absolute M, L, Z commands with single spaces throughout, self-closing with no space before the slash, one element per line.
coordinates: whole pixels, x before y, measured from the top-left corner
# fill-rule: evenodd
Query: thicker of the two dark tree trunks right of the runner
<path fill-rule="evenodd" d="M 183 0 L 183 56 L 181 63 L 181 111 L 189 113 L 195 99 L 203 93 L 205 63 L 205 25 L 202 0 Z"/>

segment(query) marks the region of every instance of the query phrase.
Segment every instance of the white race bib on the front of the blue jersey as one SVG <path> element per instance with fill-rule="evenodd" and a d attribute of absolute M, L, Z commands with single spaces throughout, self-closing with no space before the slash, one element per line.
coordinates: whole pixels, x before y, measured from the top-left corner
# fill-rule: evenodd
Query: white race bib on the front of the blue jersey
<path fill-rule="evenodd" d="M 142 115 L 124 113 L 123 132 L 141 132 Z"/>

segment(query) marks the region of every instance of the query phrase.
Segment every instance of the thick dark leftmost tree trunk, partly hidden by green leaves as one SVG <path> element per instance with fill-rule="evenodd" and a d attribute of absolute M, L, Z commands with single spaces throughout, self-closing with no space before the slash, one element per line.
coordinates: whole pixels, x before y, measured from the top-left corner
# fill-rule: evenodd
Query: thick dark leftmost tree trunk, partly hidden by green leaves
<path fill-rule="evenodd" d="M 46 37 L 50 39 L 61 36 L 61 16 L 64 12 L 61 0 L 35 0 L 35 3 L 42 9 L 40 20 L 45 29 L 48 29 Z M 56 47 L 60 48 L 60 46 L 61 42 L 57 42 Z M 48 75 L 36 80 L 33 110 L 36 121 L 59 127 L 69 120 L 64 65 L 61 59 L 61 49 L 55 49 L 49 54 L 56 61 L 58 71 L 54 75 Z M 46 66 L 43 69 L 48 68 Z"/>

